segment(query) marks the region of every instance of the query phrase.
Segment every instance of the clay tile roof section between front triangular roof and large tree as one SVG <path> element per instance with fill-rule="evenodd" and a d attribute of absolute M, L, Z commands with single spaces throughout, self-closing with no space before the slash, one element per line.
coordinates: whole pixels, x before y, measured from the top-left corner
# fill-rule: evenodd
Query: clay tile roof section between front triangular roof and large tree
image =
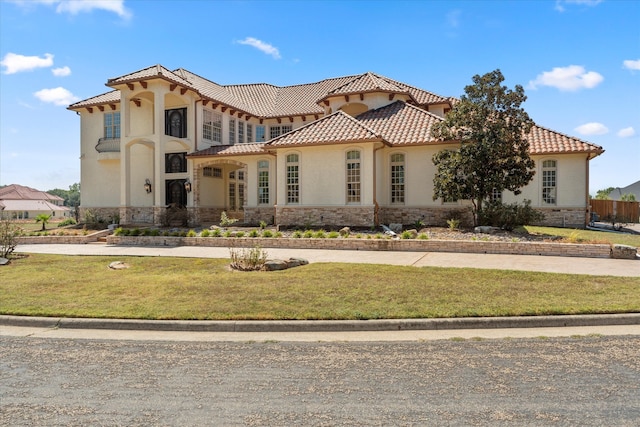
<path fill-rule="evenodd" d="M 385 107 L 369 110 L 356 119 L 380 133 L 391 145 L 416 145 L 435 142 L 431 126 L 443 119 L 435 114 L 396 101 Z"/>

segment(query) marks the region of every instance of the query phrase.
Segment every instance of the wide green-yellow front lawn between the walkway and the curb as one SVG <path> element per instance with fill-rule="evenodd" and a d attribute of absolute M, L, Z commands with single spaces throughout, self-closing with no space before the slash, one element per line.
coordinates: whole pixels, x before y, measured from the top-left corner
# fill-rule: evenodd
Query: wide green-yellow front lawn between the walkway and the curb
<path fill-rule="evenodd" d="M 110 270 L 123 261 L 126 270 Z M 373 319 L 640 312 L 640 278 L 32 254 L 0 268 L 0 314 L 139 319 Z"/>

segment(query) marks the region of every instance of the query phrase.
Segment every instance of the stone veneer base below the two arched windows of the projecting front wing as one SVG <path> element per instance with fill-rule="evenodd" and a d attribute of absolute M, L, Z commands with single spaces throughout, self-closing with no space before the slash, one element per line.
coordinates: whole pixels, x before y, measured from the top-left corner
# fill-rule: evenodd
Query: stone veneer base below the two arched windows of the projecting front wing
<path fill-rule="evenodd" d="M 371 227 L 373 206 L 276 206 L 276 224 L 282 227 Z"/>

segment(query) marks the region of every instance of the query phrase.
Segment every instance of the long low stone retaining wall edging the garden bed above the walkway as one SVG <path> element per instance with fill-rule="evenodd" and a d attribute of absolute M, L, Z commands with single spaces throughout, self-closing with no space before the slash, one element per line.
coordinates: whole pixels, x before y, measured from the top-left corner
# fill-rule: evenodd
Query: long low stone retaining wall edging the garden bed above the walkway
<path fill-rule="evenodd" d="M 391 239 L 293 239 L 260 237 L 150 237 L 109 236 L 111 245 L 132 246 L 211 246 L 263 248 L 330 249 L 367 251 L 456 252 L 514 255 L 547 255 L 586 258 L 610 258 L 611 245 L 544 242 L 482 242 L 466 240 L 391 240 Z"/>

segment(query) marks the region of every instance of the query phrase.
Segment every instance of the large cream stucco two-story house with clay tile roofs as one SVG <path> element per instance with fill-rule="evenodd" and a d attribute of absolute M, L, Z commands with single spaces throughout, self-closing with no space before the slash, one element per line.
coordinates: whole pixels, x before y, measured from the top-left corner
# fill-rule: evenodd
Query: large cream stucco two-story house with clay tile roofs
<path fill-rule="evenodd" d="M 455 148 L 431 127 L 448 98 L 365 73 L 315 83 L 219 85 L 156 65 L 109 79 L 80 115 L 81 212 L 159 223 L 184 206 L 195 223 L 222 211 L 282 226 L 446 225 L 468 201 L 433 200 L 432 157 Z M 504 202 L 532 201 L 545 223 L 584 226 L 597 145 L 539 126 L 533 181 Z"/>

